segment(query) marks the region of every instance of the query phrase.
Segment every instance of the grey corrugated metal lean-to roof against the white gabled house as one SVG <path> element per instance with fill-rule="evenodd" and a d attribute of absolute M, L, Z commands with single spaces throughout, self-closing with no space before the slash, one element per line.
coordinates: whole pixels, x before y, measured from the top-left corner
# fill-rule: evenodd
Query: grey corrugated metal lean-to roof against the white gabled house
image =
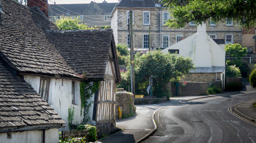
<path fill-rule="evenodd" d="M 224 70 L 225 67 L 197 67 L 196 70 L 190 70 L 189 73 L 220 73 Z"/>

